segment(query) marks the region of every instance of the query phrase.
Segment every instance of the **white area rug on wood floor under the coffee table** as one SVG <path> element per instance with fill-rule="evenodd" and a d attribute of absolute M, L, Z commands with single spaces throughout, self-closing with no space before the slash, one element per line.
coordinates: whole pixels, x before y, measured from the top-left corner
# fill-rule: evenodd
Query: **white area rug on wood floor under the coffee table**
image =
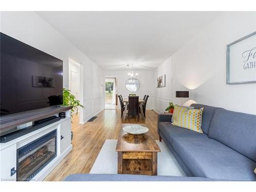
<path fill-rule="evenodd" d="M 157 175 L 186 176 L 164 142 L 159 142 L 159 140 L 156 140 L 156 142 L 161 150 L 161 152 L 157 153 Z M 117 139 L 105 140 L 90 174 L 117 174 L 116 143 Z"/>

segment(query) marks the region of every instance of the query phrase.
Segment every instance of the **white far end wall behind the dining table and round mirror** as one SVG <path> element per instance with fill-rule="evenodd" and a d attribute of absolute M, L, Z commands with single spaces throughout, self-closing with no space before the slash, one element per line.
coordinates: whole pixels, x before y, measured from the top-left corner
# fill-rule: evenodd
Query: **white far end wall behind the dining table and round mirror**
<path fill-rule="evenodd" d="M 135 73 L 138 73 L 139 76 L 136 77 L 140 81 L 140 89 L 136 92 L 130 92 L 125 87 L 125 82 L 129 78 L 128 73 L 131 71 L 128 70 L 104 70 L 104 77 L 115 77 L 116 78 L 116 94 L 122 95 L 123 98 L 128 98 L 129 94 L 136 94 L 140 98 L 143 98 L 144 95 L 149 95 L 146 104 L 146 109 L 151 110 L 153 107 L 152 99 L 154 90 L 156 88 L 156 83 L 154 81 L 154 71 L 153 70 L 137 70 Z M 120 103 L 118 100 L 118 106 Z M 119 109 L 119 108 L 118 108 Z"/>

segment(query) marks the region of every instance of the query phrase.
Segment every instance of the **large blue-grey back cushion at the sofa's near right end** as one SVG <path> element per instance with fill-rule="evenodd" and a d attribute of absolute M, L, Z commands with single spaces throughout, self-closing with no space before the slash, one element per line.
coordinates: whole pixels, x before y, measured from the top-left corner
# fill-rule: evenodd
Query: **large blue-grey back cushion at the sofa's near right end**
<path fill-rule="evenodd" d="M 256 161 L 256 115 L 216 110 L 208 136 Z"/>

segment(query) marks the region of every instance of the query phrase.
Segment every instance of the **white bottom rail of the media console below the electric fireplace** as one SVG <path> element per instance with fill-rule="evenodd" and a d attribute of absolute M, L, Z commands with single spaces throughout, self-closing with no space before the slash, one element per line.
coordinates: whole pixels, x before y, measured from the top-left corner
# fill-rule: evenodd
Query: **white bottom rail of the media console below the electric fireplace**
<path fill-rule="evenodd" d="M 60 161 L 62 159 L 64 159 L 64 157 L 66 157 L 69 152 L 71 152 L 73 149 L 73 145 L 71 144 L 62 154 L 60 154 L 59 156 L 55 157 L 48 165 L 46 165 L 46 167 L 42 170 L 44 170 L 44 172 L 39 172 L 31 181 L 42 181 L 46 178 L 46 176 L 48 176 L 51 171 L 60 163 Z"/>

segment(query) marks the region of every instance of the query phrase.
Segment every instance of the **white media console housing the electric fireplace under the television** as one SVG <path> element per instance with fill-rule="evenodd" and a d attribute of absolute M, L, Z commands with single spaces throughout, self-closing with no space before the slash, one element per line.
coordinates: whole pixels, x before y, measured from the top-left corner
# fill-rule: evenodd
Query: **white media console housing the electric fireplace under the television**
<path fill-rule="evenodd" d="M 68 109 L 68 110 L 67 110 Z M 40 109 L 38 109 L 40 110 Z M 55 156 L 51 159 L 48 164 L 40 167 L 40 170 L 37 170 L 37 173 L 34 174 L 31 181 L 42 181 L 45 177 L 51 172 L 51 170 L 72 150 L 73 145 L 71 144 L 71 111 L 70 108 L 61 108 L 61 109 L 53 109 L 51 114 L 46 113 L 36 113 L 38 110 L 31 111 L 31 115 L 28 117 L 28 113 L 26 114 L 26 120 L 24 122 L 17 121 L 17 119 L 13 119 L 16 121 L 16 126 L 18 124 L 28 123 L 29 120 L 42 119 L 42 117 L 47 116 L 58 116 L 59 112 L 66 112 L 66 118 L 60 119 L 56 122 L 48 124 L 46 126 L 40 127 L 33 132 L 22 135 L 18 138 L 10 140 L 8 142 L 0 143 L 0 179 L 1 181 L 16 181 L 19 180 L 17 178 L 17 157 L 18 149 L 24 148 L 29 145 L 33 141 L 37 141 L 40 138 L 44 138 L 45 135 L 49 135 L 49 133 L 54 132 L 54 142 L 55 142 Z M 66 111 L 65 111 L 66 110 Z M 56 114 L 54 114 L 57 112 Z M 34 116 L 34 117 L 33 117 Z M 3 123 L 2 123 L 3 120 Z M 1 118 L 1 125 L 6 126 L 4 124 L 5 119 Z M 9 123 L 9 122 L 8 122 Z M 11 126 L 11 124 L 8 124 Z M 56 130 L 56 132 L 55 132 Z M 37 148 L 36 148 L 37 150 Z M 30 151 L 30 150 L 28 150 Z M 38 151 L 38 150 L 37 150 Z M 26 152 L 24 152 L 25 154 Z M 39 153 L 39 152 L 37 152 Z"/>

